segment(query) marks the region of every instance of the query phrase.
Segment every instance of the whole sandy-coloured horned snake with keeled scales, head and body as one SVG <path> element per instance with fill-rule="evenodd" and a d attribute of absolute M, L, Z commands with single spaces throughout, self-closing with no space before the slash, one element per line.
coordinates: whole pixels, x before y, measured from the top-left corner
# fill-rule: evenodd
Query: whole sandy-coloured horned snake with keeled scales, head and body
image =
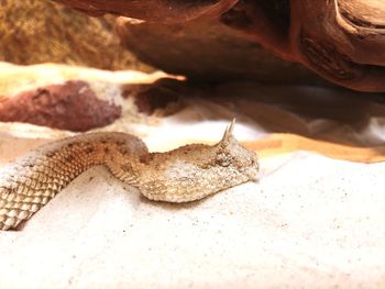
<path fill-rule="evenodd" d="M 150 200 L 191 202 L 255 180 L 258 158 L 233 136 L 234 120 L 213 144 L 150 153 L 139 137 L 95 132 L 53 141 L 0 170 L 0 230 L 18 230 L 85 170 L 105 165 Z"/>

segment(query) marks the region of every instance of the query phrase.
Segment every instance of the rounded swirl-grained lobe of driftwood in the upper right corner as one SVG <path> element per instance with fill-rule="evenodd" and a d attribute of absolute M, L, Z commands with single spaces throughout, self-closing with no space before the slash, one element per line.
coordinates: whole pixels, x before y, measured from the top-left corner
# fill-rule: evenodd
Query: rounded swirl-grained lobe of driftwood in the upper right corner
<path fill-rule="evenodd" d="M 339 85 L 385 91 L 384 2 L 292 2 L 290 44 L 299 62 Z M 383 26 L 374 10 L 382 11 Z"/>

